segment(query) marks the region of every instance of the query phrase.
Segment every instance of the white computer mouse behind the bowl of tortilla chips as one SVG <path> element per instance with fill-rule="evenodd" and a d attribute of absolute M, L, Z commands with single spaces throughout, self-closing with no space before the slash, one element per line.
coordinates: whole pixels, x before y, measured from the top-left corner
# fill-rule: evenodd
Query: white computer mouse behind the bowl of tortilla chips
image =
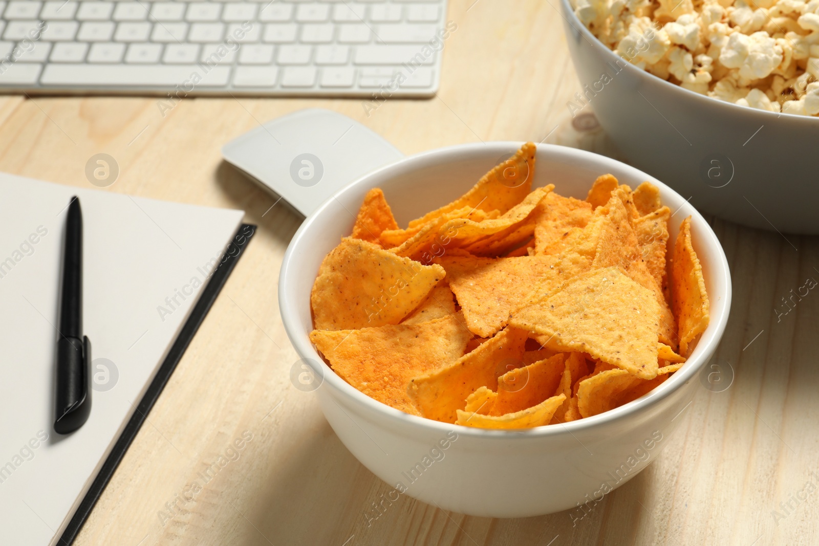
<path fill-rule="evenodd" d="M 222 156 L 305 216 L 357 178 L 404 157 L 378 133 L 323 108 L 260 125 L 225 144 Z"/>

